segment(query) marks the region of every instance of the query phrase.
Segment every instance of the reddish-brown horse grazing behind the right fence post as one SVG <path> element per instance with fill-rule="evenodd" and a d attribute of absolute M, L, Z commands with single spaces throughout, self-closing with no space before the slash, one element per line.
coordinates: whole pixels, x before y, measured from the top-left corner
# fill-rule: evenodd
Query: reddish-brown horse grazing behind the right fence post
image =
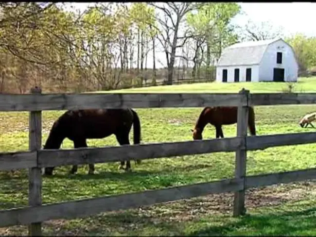
<path fill-rule="evenodd" d="M 197 119 L 193 132 L 193 139 L 202 139 L 204 127 L 210 123 L 216 129 L 216 138 L 224 137 L 222 125 L 234 124 L 237 122 L 238 107 L 218 106 L 206 107 L 202 110 Z M 256 135 L 255 112 L 252 107 L 248 110 L 248 127 L 251 135 Z"/>

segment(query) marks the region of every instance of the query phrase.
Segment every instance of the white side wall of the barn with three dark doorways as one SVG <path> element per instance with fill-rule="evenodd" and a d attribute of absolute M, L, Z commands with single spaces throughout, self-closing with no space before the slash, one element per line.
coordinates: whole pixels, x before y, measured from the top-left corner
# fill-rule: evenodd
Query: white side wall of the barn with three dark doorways
<path fill-rule="evenodd" d="M 227 69 L 227 82 L 234 82 L 235 68 L 239 68 L 239 82 L 246 82 L 246 68 L 251 68 L 251 82 L 258 82 L 259 80 L 259 66 L 258 65 L 216 67 L 216 82 L 222 82 L 223 69 Z"/>

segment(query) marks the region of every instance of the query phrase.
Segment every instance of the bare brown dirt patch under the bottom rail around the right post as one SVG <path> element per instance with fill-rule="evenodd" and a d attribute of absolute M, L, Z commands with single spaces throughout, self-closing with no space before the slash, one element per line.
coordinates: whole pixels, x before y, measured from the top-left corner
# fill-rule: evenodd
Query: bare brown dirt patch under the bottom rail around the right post
<path fill-rule="evenodd" d="M 277 206 L 282 203 L 306 198 L 316 187 L 313 181 L 287 185 L 274 185 L 252 188 L 246 191 L 246 208 Z M 208 214 L 230 213 L 233 206 L 233 193 L 212 194 L 172 203 L 142 207 L 140 212 L 147 212 L 147 217 L 168 220 L 193 220 Z M 164 208 L 163 208 L 164 207 Z"/>

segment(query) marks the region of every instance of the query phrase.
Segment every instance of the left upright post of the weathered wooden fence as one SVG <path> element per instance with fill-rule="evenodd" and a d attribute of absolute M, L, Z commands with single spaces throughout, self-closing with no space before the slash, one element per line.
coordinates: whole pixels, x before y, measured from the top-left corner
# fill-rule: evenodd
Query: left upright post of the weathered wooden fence
<path fill-rule="evenodd" d="M 42 90 L 35 86 L 33 95 L 41 94 Z M 36 151 L 42 146 L 42 111 L 31 111 L 29 117 L 29 149 Z M 29 169 L 29 205 L 42 204 L 42 175 L 40 168 Z M 29 225 L 29 236 L 42 236 L 41 222 Z"/>

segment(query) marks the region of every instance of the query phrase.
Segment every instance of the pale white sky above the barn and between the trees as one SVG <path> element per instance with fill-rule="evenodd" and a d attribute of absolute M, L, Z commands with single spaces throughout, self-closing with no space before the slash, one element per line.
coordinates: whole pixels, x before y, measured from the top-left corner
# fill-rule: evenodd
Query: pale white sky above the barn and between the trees
<path fill-rule="evenodd" d="M 273 26 L 282 27 L 284 35 L 289 36 L 302 33 L 307 36 L 316 36 L 316 27 L 313 16 L 316 12 L 316 3 L 313 2 L 239 2 L 244 14 L 236 16 L 232 23 L 239 26 L 245 26 L 248 20 L 254 23 L 268 21 Z M 81 11 L 85 10 L 90 3 L 72 2 L 75 8 Z M 159 62 L 157 68 L 166 67 L 165 54 L 156 52 Z M 148 54 L 148 68 L 152 68 L 152 54 Z"/>

